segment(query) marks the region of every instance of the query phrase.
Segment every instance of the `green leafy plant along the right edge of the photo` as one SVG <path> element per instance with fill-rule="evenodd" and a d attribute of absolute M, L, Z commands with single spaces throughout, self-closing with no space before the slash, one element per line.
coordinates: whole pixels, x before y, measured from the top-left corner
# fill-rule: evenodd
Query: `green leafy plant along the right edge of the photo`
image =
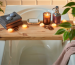
<path fill-rule="evenodd" d="M 64 15 L 66 14 L 70 9 L 72 9 L 72 15 L 73 17 L 75 17 L 75 7 L 73 7 L 75 5 L 75 2 L 69 2 L 67 3 L 64 7 L 67 7 L 63 13 L 61 15 Z M 55 35 L 60 35 L 60 34 L 63 34 L 63 41 L 67 40 L 68 38 L 70 39 L 70 42 L 71 40 L 75 37 L 75 29 L 74 29 L 74 26 L 75 25 L 72 25 L 71 23 L 69 22 L 64 22 L 64 23 L 61 23 L 59 25 L 60 27 L 63 27 L 61 29 L 59 29 Z M 66 28 L 68 30 L 66 30 Z"/>

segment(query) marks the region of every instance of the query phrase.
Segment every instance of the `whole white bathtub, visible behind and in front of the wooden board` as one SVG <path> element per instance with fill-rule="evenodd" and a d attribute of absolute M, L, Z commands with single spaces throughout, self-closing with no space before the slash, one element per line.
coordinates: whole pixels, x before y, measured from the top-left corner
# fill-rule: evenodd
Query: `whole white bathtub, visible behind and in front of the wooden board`
<path fill-rule="evenodd" d="M 52 11 L 54 7 L 54 5 L 8 5 L 5 15 L 15 11 L 22 16 L 22 20 L 29 18 L 43 20 L 43 12 L 54 13 Z M 59 6 L 60 13 L 64 10 L 62 7 Z M 61 16 L 61 20 L 63 19 L 69 20 L 68 14 Z M 8 46 L 10 45 L 7 40 L 2 65 L 52 65 L 62 52 L 62 40 L 12 40 L 11 51 Z"/>

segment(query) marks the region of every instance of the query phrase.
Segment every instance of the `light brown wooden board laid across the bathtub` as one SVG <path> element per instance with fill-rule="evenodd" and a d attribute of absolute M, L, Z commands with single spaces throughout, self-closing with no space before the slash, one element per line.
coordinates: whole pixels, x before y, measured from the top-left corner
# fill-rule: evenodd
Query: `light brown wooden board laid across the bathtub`
<path fill-rule="evenodd" d="M 25 21 L 23 21 L 25 23 Z M 72 22 L 72 21 L 69 21 Z M 0 29 L 3 26 L 0 25 Z M 28 25 L 28 28 L 19 27 L 18 31 L 9 33 L 7 30 L 0 30 L 0 40 L 63 40 L 63 35 L 54 35 L 60 27 L 54 30 L 45 29 L 40 25 Z"/>

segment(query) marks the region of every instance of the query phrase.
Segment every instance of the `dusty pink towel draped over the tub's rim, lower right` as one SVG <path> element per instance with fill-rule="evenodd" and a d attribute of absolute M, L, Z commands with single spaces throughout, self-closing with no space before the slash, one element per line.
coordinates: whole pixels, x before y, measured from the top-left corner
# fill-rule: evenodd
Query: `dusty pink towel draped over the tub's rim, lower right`
<path fill-rule="evenodd" d="M 75 41 L 69 42 L 53 65 L 66 65 L 70 56 L 75 53 Z"/>

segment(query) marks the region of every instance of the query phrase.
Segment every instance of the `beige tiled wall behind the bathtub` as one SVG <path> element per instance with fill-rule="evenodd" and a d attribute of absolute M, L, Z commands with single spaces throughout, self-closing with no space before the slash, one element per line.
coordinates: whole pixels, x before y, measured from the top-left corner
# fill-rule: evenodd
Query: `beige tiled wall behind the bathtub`
<path fill-rule="evenodd" d="M 71 0 L 0 0 L 6 5 L 65 5 Z M 72 0 L 75 1 L 75 0 Z M 68 12 L 70 20 L 73 20 L 71 10 Z"/>

